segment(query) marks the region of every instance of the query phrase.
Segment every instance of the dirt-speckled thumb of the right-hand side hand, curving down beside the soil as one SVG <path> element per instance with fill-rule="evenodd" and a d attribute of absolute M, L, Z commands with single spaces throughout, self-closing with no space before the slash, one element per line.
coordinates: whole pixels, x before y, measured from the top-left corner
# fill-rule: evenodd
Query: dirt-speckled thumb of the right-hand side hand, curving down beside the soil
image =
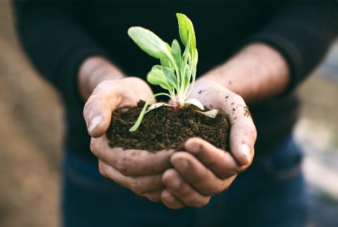
<path fill-rule="evenodd" d="M 256 142 L 256 128 L 244 99 L 238 94 L 219 85 L 218 82 L 199 80 L 191 97 L 199 99 L 202 104 L 223 111 L 230 123 L 230 149 L 242 169 L 251 164 L 253 159 L 253 145 Z"/>

